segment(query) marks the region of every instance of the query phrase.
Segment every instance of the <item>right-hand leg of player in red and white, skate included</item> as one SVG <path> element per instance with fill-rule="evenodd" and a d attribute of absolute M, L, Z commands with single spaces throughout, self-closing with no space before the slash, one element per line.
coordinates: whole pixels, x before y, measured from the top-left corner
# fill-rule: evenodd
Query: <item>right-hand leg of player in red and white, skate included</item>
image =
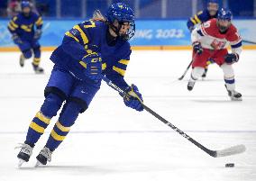
<path fill-rule="evenodd" d="M 227 64 L 224 61 L 224 56 L 228 53 L 227 50 L 218 50 L 215 54 L 215 62 L 223 69 L 224 72 L 224 82 L 225 87 L 228 92 L 228 95 L 232 100 L 242 100 L 242 95 L 235 91 L 235 79 L 234 79 L 234 71 L 233 66 L 231 64 Z"/>

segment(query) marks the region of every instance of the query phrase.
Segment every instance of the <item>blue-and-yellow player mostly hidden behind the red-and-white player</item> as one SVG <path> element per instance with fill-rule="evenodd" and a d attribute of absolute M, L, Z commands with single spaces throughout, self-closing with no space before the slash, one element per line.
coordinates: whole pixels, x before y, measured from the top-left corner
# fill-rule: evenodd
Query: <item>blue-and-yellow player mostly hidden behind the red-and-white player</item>
<path fill-rule="evenodd" d="M 218 0 L 208 0 L 207 8 L 204 11 L 200 11 L 195 14 L 193 17 L 187 20 L 187 28 L 190 32 L 192 32 L 198 24 L 205 23 L 213 18 L 217 17 L 219 9 Z M 206 77 L 208 66 L 212 63 L 211 59 L 207 61 L 205 72 L 203 74 L 203 78 Z"/>

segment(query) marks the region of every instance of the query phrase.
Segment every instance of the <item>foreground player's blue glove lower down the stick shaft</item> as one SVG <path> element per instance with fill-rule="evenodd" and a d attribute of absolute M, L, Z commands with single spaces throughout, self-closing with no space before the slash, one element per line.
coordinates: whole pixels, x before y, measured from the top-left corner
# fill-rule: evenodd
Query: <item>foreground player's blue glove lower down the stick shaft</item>
<path fill-rule="evenodd" d="M 135 85 L 127 86 L 124 91 L 129 95 L 123 96 L 124 104 L 135 109 L 136 111 L 142 112 L 144 109 L 142 106 L 143 100 L 138 87 Z"/>

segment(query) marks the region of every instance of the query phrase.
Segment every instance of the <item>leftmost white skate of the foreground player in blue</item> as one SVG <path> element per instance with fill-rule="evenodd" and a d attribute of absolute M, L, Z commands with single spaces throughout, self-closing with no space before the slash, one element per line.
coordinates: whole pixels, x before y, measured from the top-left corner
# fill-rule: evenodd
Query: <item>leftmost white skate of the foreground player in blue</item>
<path fill-rule="evenodd" d="M 24 162 L 28 162 L 32 156 L 32 147 L 28 144 L 21 143 L 21 146 L 16 147 L 15 149 L 21 148 L 17 158 L 19 158 L 18 167 L 22 167 Z"/>

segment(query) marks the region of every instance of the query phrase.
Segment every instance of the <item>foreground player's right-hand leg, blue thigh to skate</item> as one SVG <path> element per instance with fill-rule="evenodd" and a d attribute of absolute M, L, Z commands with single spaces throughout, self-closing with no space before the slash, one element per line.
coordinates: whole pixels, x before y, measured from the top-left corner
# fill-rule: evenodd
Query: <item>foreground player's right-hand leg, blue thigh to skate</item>
<path fill-rule="evenodd" d="M 59 144 L 68 135 L 71 126 L 76 122 L 79 113 L 84 113 L 99 89 L 99 84 L 77 82 L 74 90 L 69 96 L 67 103 L 59 114 L 59 121 L 56 122 L 50 137 L 40 154 L 37 156 L 38 164 L 46 165 L 51 159 L 51 153 L 59 147 Z"/>

